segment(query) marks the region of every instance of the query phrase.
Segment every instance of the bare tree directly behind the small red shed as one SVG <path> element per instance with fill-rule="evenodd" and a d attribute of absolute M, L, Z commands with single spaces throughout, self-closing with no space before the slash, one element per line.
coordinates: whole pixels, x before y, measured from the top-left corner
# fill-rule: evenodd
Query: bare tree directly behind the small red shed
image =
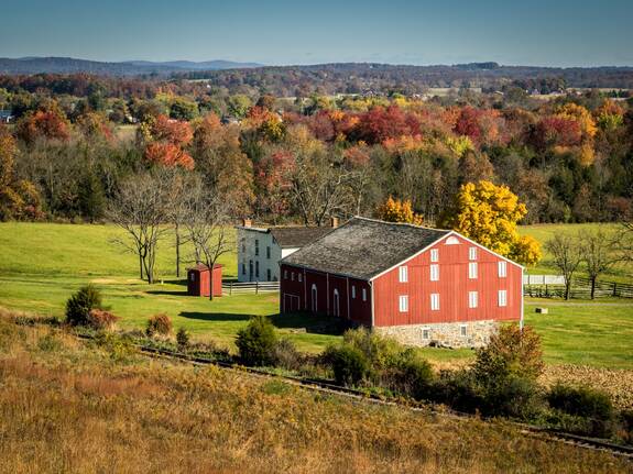
<path fill-rule="evenodd" d="M 234 247 L 230 224 L 230 205 L 198 180 L 187 191 L 184 224 L 194 244 L 197 264 L 209 268 L 209 299 L 214 299 L 212 268 L 218 258 Z"/>

